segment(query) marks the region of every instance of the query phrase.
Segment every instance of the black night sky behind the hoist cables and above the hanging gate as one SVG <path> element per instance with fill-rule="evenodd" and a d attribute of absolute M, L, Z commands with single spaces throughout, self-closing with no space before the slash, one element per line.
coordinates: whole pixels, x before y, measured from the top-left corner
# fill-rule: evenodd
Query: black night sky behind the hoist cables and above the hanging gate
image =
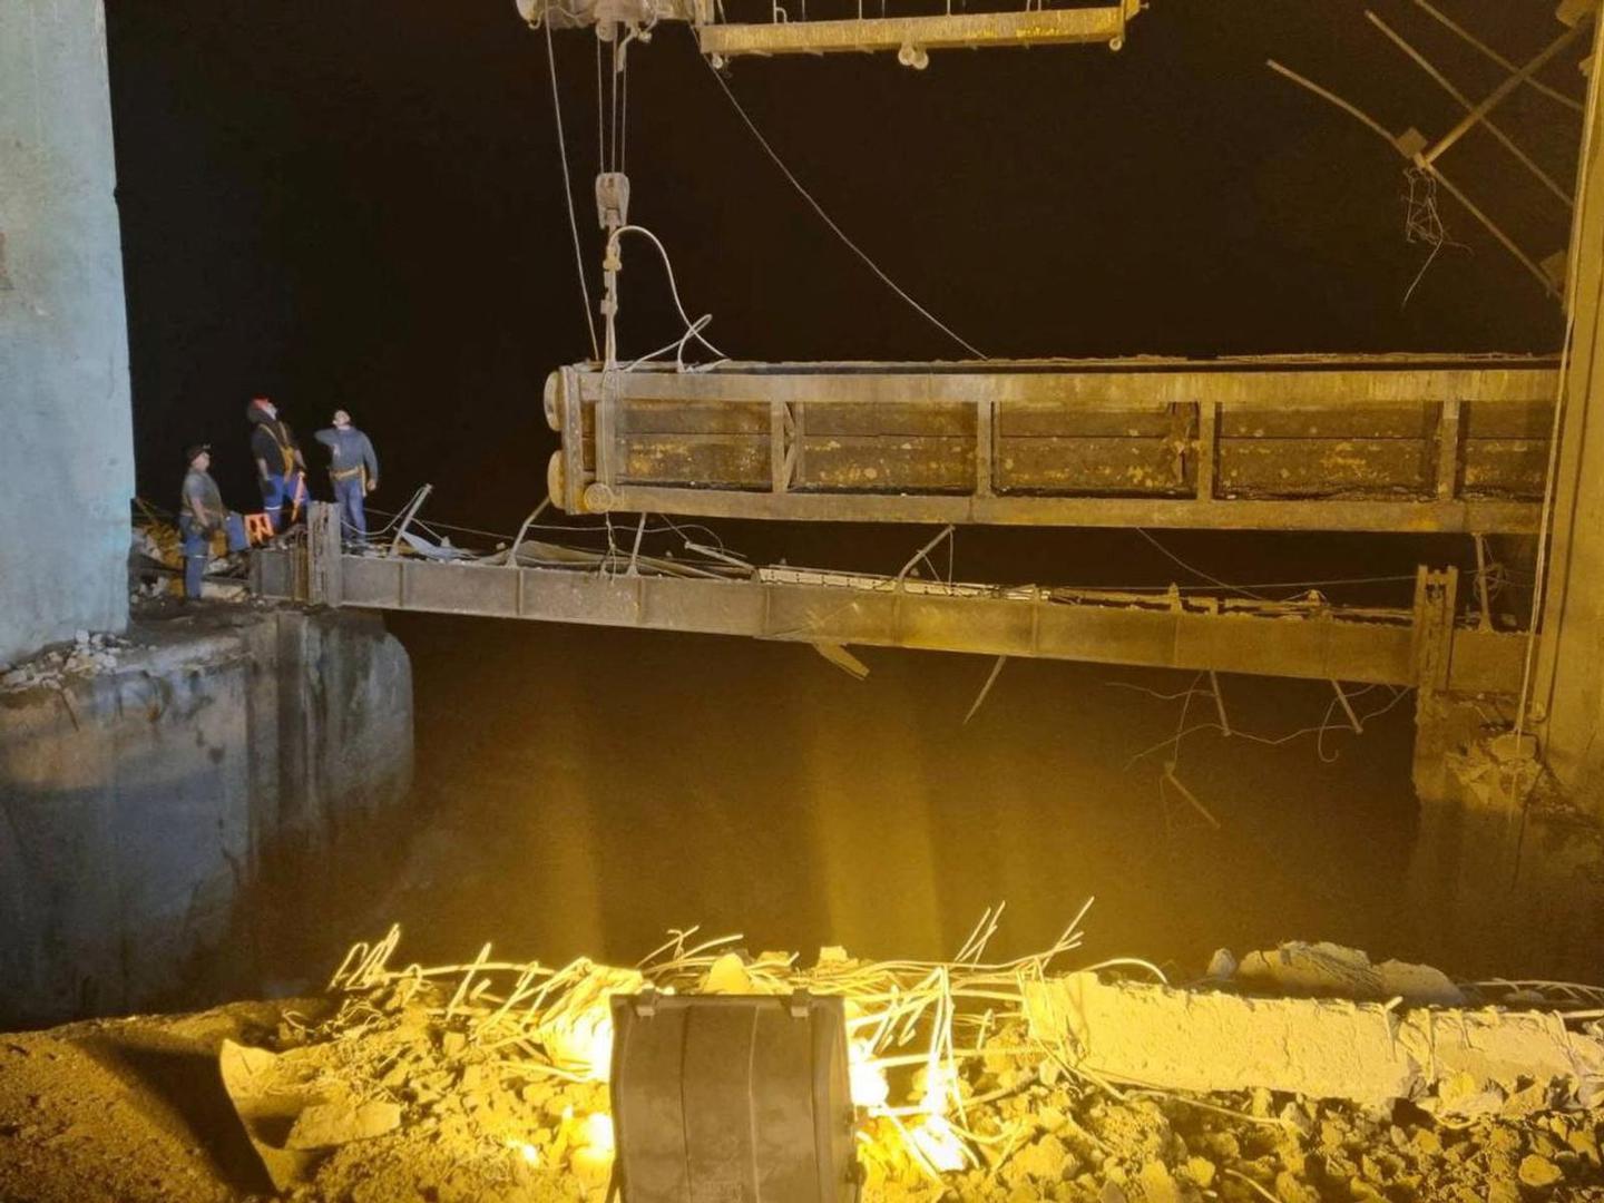
<path fill-rule="evenodd" d="M 1405 0 L 1375 0 L 1471 93 L 1497 69 Z M 1511 58 L 1551 0 L 1444 0 Z M 140 489 L 218 444 L 252 488 L 242 409 L 298 430 L 343 404 L 395 505 L 504 528 L 544 491 L 549 369 L 587 343 L 561 202 L 545 45 L 510 0 L 109 5 Z M 600 257 L 593 38 L 557 35 L 587 258 Z M 1453 103 L 1338 0 L 1156 0 L 1126 48 L 751 59 L 733 87 L 824 207 L 993 356 L 1553 350 L 1556 306 L 1471 218 L 1408 308 L 1400 160 L 1264 67 L 1274 55 L 1389 128 Z M 1574 59 L 1549 77 L 1578 91 Z M 953 358 L 823 228 L 698 59 L 659 29 L 630 59 L 632 217 L 736 358 Z M 1577 125 L 1535 95 L 1508 125 L 1566 178 Z M 1479 136 L 1450 173 L 1538 257 L 1566 213 Z M 675 334 L 632 249 L 626 353 Z"/>

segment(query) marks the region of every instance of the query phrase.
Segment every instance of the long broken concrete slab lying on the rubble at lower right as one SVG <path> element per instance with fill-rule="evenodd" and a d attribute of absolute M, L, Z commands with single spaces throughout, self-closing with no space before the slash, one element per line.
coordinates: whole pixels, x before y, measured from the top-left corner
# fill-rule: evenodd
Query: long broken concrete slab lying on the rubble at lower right
<path fill-rule="evenodd" d="M 1604 1097 L 1604 1039 L 1554 1011 L 1253 998 L 1081 972 L 1027 983 L 1025 1012 L 1035 1039 L 1112 1083 L 1410 1100 L 1439 1116 Z"/>

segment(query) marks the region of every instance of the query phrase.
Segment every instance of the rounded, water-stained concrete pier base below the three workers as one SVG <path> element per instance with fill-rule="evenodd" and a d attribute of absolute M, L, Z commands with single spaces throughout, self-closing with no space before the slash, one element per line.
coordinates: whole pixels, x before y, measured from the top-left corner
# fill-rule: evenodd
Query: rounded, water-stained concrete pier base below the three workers
<path fill-rule="evenodd" d="M 168 996 L 249 890 L 409 791 L 411 662 L 379 619 L 217 608 L 132 635 L 114 669 L 0 693 L 0 1028 Z"/>

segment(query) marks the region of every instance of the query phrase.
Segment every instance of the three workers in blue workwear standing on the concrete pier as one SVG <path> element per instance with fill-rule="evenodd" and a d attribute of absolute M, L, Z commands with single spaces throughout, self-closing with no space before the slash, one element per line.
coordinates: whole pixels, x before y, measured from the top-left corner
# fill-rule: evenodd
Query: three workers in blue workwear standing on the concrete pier
<path fill-rule="evenodd" d="M 279 417 L 269 398 L 253 398 L 245 417 L 250 422 L 250 459 L 261 486 L 260 521 L 273 534 L 281 534 L 306 505 L 306 459 L 289 422 Z M 329 481 L 334 502 L 340 507 L 342 539 L 361 545 L 367 539 L 364 499 L 379 488 L 374 444 L 351 425 L 351 415 L 343 409 L 334 411 L 334 425 L 319 430 L 314 438 L 329 448 Z M 205 443 L 184 448 L 184 465 L 178 531 L 184 545 L 184 597 L 197 598 L 212 555 L 212 536 L 225 533 L 229 552 L 242 552 L 250 541 L 245 520 L 223 505 L 223 494 L 212 480 L 212 448 Z"/>

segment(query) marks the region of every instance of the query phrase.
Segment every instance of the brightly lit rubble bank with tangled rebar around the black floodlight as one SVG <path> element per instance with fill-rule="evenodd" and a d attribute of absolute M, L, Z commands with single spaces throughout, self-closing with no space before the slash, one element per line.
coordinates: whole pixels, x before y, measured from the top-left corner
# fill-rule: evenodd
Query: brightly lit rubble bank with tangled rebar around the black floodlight
<path fill-rule="evenodd" d="M 643 985 L 735 994 L 802 985 L 844 994 L 866 1203 L 1604 1201 L 1604 1096 L 1594 1073 L 1604 1009 L 1596 990 L 1445 986 L 1436 970 L 1392 964 L 1371 969 L 1424 993 L 1456 991 L 1466 1006 L 1349 999 L 1330 974 L 1310 978 L 1309 967 L 1335 964 L 1336 977 L 1352 977 L 1363 967 L 1352 950 L 1307 945 L 1250 954 L 1240 962 L 1254 967 L 1246 975 L 1237 974 L 1235 958 L 1222 972 L 1227 959 L 1217 956 L 1214 977 L 1181 990 L 1148 980 L 1156 974 L 1139 961 L 1076 974 L 1049 972 L 1044 958 L 986 966 L 980 954 L 990 927 L 982 929 L 961 959 L 938 966 L 865 962 L 842 950 L 823 950 L 815 964 L 800 966 L 789 954 L 747 956 L 727 942 L 693 945 L 690 934 L 677 934 L 666 953 L 637 969 L 499 962 L 488 946 L 464 966 L 390 967 L 398 935 L 391 932 L 353 950 L 327 996 L 279 1006 L 266 1020 L 253 1004 L 249 1025 L 209 1017 L 154 1023 L 165 1025 L 162 1039 L 186 1028 L 212 1033 L 233 1139 L 252 1160 L 257 1190 L 298 1203 L 600 1203 L 614 1161 L 610 1003 Z M 1071 927 L 1055 953 L 1073 945 Z M 1298 982 L 1286 990 L 1304 996 L 1251 998 L 1246 991 L 1280 988 L 1259 972 L 1266 966 L 1290 967 Z M 1011 975 L 1017 1006 L 1001 985 Z M 1360 993 L 1375 985 L 1363 972 L 1357 980 Z M 887 988 L 892 982 L 901 985 Z M 1400 1012 L 1434 1014 L 1444 1028 L 1474 1019 L 1480 1033 L 1497 1033 L 1505 1019 L 1517 1031 L 1535 1022 L 1569 1044 L 1572 1060 L 1522 1067 L 1505 1059 L 1476 1071 L 1420 1075 L 1400 1079 L 1413 1096 L 1367 1102 L 1262 1084 L 1200 1089 L 1132 1081 L 1099 1071 L 1097 1041 L 1065 1035 L 1030 998 L 1086 994 L 1089 983 L 1104 991 L 1100 1009 L 1089 1012 L 1097 1025 L 1126 1028 L 1112 1047 L 1161 1046 L 1160 1028 L 1189 1011 L 1213 1017 L 1211 1007 L 1229 998 L 1302 1006 L 1309 1014 L 1347 1007 L 1383 1030 Z M 1134 1003 L 1123 1012 L 1108 1009 L 1121 999 Z M 1155 999 L 1165 1007 L 1156 1019 L 1147 1011 Z M 93 1049 L 93 1073 L 103 1073 L 115 1062 L 107 1055 L 112 1028 L 82 1025 L 72 1036 L 74 1030 L 61 1030 L 0 1041 L 0 1054 L 13 1054 L 10 1062 L 0 1057 L 0 1197 L 30 1181 L 18 1177 L 29 1166 L 55 1166 L 50 1173 L 59 1176 L 61 1166 L 83 1156 L 72 1150 L 115 1148 L 117 1140 L 133 1150 L 104 1169 L 119 1200 L 210 1203 L 250 1193 L 237 1177 L 209 1181 L 199 1148 L 189 1150 L 196 1160 L 181 1176 L 172 1155 L 146 1173 L 138 1150 L 144 1140 L 156 1147 L 157 1134 L 119 1129 L 115 1139 L 85 1140 L 93 1132 L 83 1129 L 112 1115 L 111 1105 L 80 1097 L 72 1100 L 77 1110 L 51 1118 L 69 1091 L 50 1084 L 47 1057 L 66 1060 L 79 1055 L 75 1049 Z M 1412 1055 L 1400 1046 L 1404 1060 Z M 1261 1071 L 1251 1055 L 1229 1047 L 1197 1047 L 1193 1062 L 1225 1079 Z M 71 1081 L 87 1079 L 79 1073 Z M 124 1113 L 160 1113 L 130 1099 L 125 1084 L 115 1097 Z M 19 1121 L 24 1105 L 42 1115 L 29 1112 Z M 205 1139 L 225 1145 L 228 1132 Z M 159 1189 L 138 1185 L 146 1181 Z M 74 1190 L 38 1198 L 98 1197 L 82 1185 Z"/>

